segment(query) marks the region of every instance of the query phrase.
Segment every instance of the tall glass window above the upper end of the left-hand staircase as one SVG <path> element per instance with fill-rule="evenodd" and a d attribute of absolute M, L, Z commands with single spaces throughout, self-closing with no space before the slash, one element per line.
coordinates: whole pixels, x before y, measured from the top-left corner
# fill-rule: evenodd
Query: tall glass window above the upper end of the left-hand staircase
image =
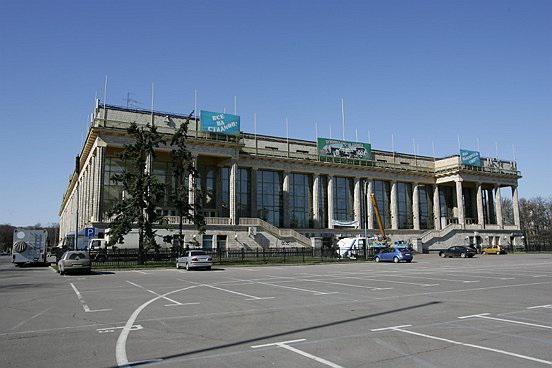
<path fill-rule="evenodd" d="M 282 174 L 278 171 L 257 171 L 257 216 L 282 226 Z"/>

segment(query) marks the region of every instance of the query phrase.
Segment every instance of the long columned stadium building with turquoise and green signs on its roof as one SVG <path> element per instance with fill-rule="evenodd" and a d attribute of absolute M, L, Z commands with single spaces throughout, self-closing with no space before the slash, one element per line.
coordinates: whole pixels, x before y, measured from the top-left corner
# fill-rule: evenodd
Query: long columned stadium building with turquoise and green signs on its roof
<path fill-rule="evenodd" d="M 101 233 L 122 188 L 119 155 L 132 122 L 154 123 L 170 136 L 186 119 L 180 114 L 96 104 L 80 153 L 80 172 L 68 183 L 60 207 L 60 234 L 76 228 Z M 378 221 L 393 240 L 419 250 L 451 245 L 516 245 L 520 232 L 516 163 L 482 158 L 461 150 L 449 157 L 415 156 L 373 150 L 365 143 L 315 141 L 241 132 L 239 117 L 201 113 L 189 125 L 188 148 L 200 178 L 207 231 L 185 225 L 186 239 L 204 248 L 310 247 L 313 239 L 374 235 Z M 170 147 L 161 147 L 151 170 L 169 188 Z M 78 186 L 76 185 L 78 182 Z M 76 189 L 79 188 L 79 195 Z M 505 221 L 501 196 L 512 200 Z M 78 203 L 77 203 L 78 197 Z M 189 200 L 195 201 L 193 190 Z M 170 226 L 178 218 L 167 195 L 159 206 Z"/>

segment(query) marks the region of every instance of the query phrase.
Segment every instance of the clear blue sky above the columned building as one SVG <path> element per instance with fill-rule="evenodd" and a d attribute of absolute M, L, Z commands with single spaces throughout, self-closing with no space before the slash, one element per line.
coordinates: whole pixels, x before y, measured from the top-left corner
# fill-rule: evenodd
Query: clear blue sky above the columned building
<path fill-rule="evenodd" d="M 513 158 L 520 194 L 550 196 L 552 1 L 0 2 L 0 223 L 57 222 L 96 93 L 242 130 L 341 135 L 420 154 Z"/>

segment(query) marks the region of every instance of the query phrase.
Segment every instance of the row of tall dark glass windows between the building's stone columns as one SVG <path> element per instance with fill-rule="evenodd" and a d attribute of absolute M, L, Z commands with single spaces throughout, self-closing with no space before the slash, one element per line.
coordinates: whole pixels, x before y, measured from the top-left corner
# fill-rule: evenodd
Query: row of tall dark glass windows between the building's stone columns
<path fill-rule="evenodd" d="M 121 196 L 121 187 L 113 180 L 113 175 L 122 172 L 121 162 L 118 158 L 108 157 L 104 171 L 104 188 L 102 197 L 102 209 L 108 209 L 115 199 Z M 153 173 L 159 182 L 166 185 L 165 197 L 160 201 L 159 207 L 163 215 L 175 215 L 176 210 L 171 206 L 170 193 L 174 187 L 171 170 L 168 162 L 155 162 Z M 253 178 L 253 173 L 255 177 Z M 284 191 L 283 173 L 273 170 L 256 170 L 238 168 L 237 171 L 237 215 L 238 217 L 259 217 L 275 225 L 284 226 Z M 228 217 L 230 215 L 230 168 L 203 165 L 199 170 L 198 188 L 201 189 L 202 208 L 208 216 Z M 256 195 L 252 197 L 252 182 L 255 182 Z M 366 198 L 365 181 L 360 183 L 361 198 Z M 292 228 L 312 228 L 313 203 L 312 191 L 318 190 L 320 213 L 320 227 L 328 226 L 328 177 L 319 176 L 318 187 L 313 186 L 313 177 L 310 174 L 289 174 L 288 213 L 289 226 Z M 452 189 L 452 188 L 451 188 Z M 388 181 L 374 180 L 373 192 L 378 203 L 381 219 L 385 228 L 391 228 L 391 183 Z M 432 190 L 419 186 L 420 203 L 420 227 L 433 227 Z M 449 193 L 441 191 L 442 196 Z M 347 177 L 334 177 L 333 218 L 340 222 L 352 222 L 354 216 L 354 179 Z M 255 203 L 253 203 L 255 202 Z M 412 185 L 409 183 L 397 183 L 397 207 L 399 228 L 413 228 L 412 215 Z M 447 203 L 442 200 L 441 204 Z M 448 201 L 448 203 L 452 203 Z M 361 218 L 366 222 L 366 208 L 369 203 L 362 203 Z M 441 212 L 449 209 L 445 206 Z M 287 224 L 286 224 L 287 225 Z M 361 226 L 365 226 L 363 223 Z M 375 225 L 375 224 L 374 224 Z"/>

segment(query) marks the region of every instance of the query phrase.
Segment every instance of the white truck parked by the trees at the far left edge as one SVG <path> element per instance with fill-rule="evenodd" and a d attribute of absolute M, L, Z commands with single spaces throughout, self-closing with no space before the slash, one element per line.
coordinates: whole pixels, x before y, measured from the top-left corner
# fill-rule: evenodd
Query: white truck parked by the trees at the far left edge
<path fill-rule="evenodd" d="M 14 229 L 12 263 L 16 266 L 50 263 L 51 259 L 46 249 L 47 241 L 46 230 Z"/>

